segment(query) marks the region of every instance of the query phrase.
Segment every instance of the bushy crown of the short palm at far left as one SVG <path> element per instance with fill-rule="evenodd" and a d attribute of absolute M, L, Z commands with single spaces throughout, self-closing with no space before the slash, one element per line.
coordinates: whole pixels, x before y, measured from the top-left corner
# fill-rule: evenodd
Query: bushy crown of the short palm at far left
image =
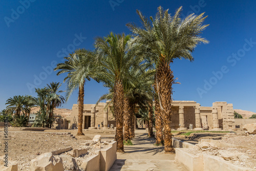
<path fill-rule="evenodd" d="M 6 112 L 15 113 L 15 116 L 20 116 L 20 113 L 30 113 L 29 102 L 26 96 L 14 96 L 13 98 L 7 99 L 5 104 L 9 104 L 6 107 Z"/>

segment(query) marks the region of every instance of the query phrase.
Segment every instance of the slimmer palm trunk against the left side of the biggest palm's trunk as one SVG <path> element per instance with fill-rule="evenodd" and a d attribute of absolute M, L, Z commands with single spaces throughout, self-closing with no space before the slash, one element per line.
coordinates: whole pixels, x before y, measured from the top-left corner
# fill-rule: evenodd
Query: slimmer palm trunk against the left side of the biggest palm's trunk
<path fill-rule="evenodd" d="M 160 144 L 163 142 L 163 122 L 162 122 L 162 116 L 159 106 L 159 100 L 158 100 L 158 91 L 157 91 L 157 83 L 155 78 L 155 118 L 156 118 L 156 144 Z"/>

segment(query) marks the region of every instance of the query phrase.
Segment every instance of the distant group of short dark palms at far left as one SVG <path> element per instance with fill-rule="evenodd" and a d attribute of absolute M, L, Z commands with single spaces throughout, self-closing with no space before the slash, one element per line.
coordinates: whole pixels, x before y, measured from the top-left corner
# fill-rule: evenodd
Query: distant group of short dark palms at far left
<path fill-rule="evenodd" d="M 65 102 L 65 98 L 59 95 L 61 84 L 59 82 L 51 82 L 47 87 L 36 89 L 37 97 L 32 96 L 14 96 L 6 101 L 7 107 L 5 112 L 14 114 L 14 125 L 26 126 L 29 120 L 31 108 L 34 106 L 39 107 L 36 114 L 36 120 L 33 126 L 36 127 L 49 127 L 54 121 L 53 110 Z"/>

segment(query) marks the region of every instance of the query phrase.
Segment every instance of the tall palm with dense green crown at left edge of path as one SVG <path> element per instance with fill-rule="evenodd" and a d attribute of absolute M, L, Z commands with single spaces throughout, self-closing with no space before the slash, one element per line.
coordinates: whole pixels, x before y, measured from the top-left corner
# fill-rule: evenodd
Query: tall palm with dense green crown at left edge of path
<path fill-rule="evenodd" d="M 134 50 L 130 49 L 131 36 L 110 33 L 95 40 L 96 61 L 101 69 L 100 81 L 113 85 L 113 112 L 116 119 L 117 152 L 123 150 L 123 79 L 129 77 L 129 69 L 135 62 Z"/>

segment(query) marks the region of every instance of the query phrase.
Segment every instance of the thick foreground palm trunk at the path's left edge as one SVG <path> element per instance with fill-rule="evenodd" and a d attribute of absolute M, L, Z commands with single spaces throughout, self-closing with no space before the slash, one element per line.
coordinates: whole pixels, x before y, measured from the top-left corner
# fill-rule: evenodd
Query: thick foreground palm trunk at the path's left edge
<path fill-rule="evenodd" d="M 116 118 L 116 140 L 117 152 L 123 150 L 123 105 L 124 105 L 123 85 L 120 81 L 116 81 L 114 85 L 113 106 Z"/>

